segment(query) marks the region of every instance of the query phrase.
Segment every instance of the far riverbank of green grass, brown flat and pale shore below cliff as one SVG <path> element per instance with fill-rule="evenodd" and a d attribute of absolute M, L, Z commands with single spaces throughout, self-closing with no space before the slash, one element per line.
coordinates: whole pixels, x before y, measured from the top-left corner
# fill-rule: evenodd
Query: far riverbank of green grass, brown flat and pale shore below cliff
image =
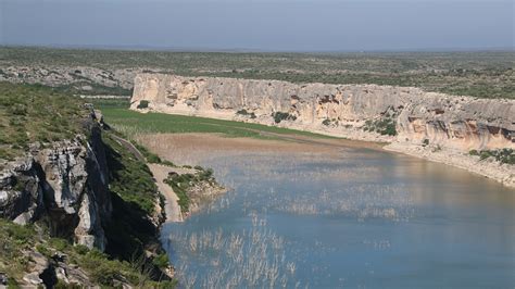
<path fill-rule="evenodd" d="M 237 122 L 198 117 L 214 117 L 202 111 L 196 113 L 196 116 L 186 116 L 163 113 L 140 114 L 127 110 L 106 109 L 105 114 L 117 129 L 133 134 L 136 138 L 141 138 L 146 144 L 151 148 L 156 148 L 159 151 L 164 151 L 164 154 L 172 158 L 172 160 L 175 160 L 174 158 L 180 159 L 181 162 L 178 163 L 197 164 L 200 159 L 199 153 L 204 150 L 209 150 L 212 154 L 215 154 L 216 151 L 219 150 L 226 150 L 224 149 L 226 147 L 225 141 L 219 142 L 222 137 L 217 138 L 217 140 L 211 137 L 216 134 L 218 136 L 237 139 L 233 141 L 230 146 L 259 146 L 260 150 L 264 150 L 267 147 L 268 150 L 281 150 L 281 148 L 288 150 L 305 150 L 305 147 L 299 147 L 299 143 L 293 143 L 298 141 L 310 142 L 316 139 L 318 143 L 321 141 L 325 141 L 326 143 L 334 141 L 359 148 L 382 149 L 382 147 L 385 147 L 387 151 L 452 165 L 494 179 L 507 187 L 513 188 L 514 186 L 514 165 L 501 164 L 491 159 L 479 160 L 478 156 L 469 155 L 467 151 L 457 149 L 451 150 L 443 146 L 438 146 L 438 142 L 432 141 L 430 141 L 430 146 L 424 147 L 422 141 L 419 144 L 403 143 L 391 136 L 382 136 L 370 131 L 348 129 L 344 127 L 338 127 L 337 129 L 324 125 L 309 126 L 289 121 L 272 125 L 271 123 L 266 123 L 265 120 L 259 118 L 250 118 L 246 120 L 246 122 L 239 120 L 240 122 Z M 227 115 L 227 118 L 230 117 Z M 147 128 L 147 130 L 145 130 L 145 128 Z M 151 130 L 148 131 L 148 128 Z M 299 133 L 297 134 L 297 131 Z M 328 136 L 328 138 L 325 136 Z M 260 140 L 271 140 L 276 141 L 276 143 L 266 142 L 269 144 L 265 146 L 261 142 L 261 144 L 254 144 L 260 142 Z M 180 146 L 185 148 L 191 147 L 191 143 L 196 143 L 196 146 L 200 146 L 199 143 L 201 143 L 201 147 L 191 148 L 191 153 L 188 154 L 189 156 L 178 156 L 174 152 L 178 146 L 169 147 L 167 144 L 169 141 L 180 143 Z M 325 148 L 328 148 L 329 151 L 332 150 L 330 146 L 326 146 Z M 319 149 L 318 147 L 311 150 L 316 151 Z M 337 151 L 338 150 L 335 152 Z"/>

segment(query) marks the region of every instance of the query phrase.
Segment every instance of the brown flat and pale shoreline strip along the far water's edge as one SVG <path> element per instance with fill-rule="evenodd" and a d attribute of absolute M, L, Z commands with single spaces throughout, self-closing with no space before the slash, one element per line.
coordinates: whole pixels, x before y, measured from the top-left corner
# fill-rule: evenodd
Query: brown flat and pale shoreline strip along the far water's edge
<path fill-rule="evenodd" d="M 323 134 L 323 130 L 312 133 Z M 331 134 L 331 136 L 336 136 Z M 280 137 L 280 136 L 276 136 Z M 152 151 L 178 163 L 196 164 L 209 155 L 224 153 L 238 155 L 241 151 L 259 152 L 305 152 L 305 153 L 341 153 L 348 148 L 365 148 L 401 153 L 414 158 L 442 163 L 467 172 L 493 179 L 506 187 L 515 188 L 515 167 L 501 164 L 491 159 L 480 160 L 459 150 L 441 149 L 438 147 L 415 146 L 401 142 L 377 142 L 348 139 L 315 139 L 304 136 L 282 136 L 278 140 L 251 138 L 226 138 L 216 134 L 152 134 L 141 135 L 138 140 Z M 346 135 L 351 139 L 350 135 Z"/>

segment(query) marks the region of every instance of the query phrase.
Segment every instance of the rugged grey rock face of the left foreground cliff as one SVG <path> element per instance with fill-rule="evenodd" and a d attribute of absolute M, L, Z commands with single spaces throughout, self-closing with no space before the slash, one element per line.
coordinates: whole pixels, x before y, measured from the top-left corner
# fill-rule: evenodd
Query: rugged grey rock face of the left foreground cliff
<path fill-rule="evenodd" d="M 108 168 L 101 131 L 87 124 L 89 140 L 33 147 L 0 172 L 0 216 L 27 224 L 43 219 L 52 236 L 105 248 L 102 224 L 111 217 Z"/>

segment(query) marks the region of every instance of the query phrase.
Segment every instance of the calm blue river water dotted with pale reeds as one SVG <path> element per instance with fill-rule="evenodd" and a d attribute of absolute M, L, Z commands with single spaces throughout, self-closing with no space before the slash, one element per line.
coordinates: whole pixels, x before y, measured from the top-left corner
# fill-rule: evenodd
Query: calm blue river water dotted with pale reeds
<path fill-rule="evenodd" d="M 185 287 L 515 286 L 515 190 L 364 149 L 205 160 L 233 190 L 162 238 Z"/>

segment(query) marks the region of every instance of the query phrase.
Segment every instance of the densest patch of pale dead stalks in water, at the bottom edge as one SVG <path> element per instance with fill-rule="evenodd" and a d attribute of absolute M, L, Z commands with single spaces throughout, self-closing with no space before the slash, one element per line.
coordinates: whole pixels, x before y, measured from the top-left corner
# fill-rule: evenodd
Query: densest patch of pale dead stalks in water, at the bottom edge
<path fill-rule="evenodd" d="M 285 255 L 285 239 L 267 229 L 266 221 L 259 219 L 258 214 L 251 217 L 249 231 L 229 234 L 217 229 L 169 236 L 181 255 L 188 254 L 201 264 L 201 268 L 191 271 L 179 261 L 177 276 L 186 288 L 301 286 L 296 280 L 296 263 Z"/>

